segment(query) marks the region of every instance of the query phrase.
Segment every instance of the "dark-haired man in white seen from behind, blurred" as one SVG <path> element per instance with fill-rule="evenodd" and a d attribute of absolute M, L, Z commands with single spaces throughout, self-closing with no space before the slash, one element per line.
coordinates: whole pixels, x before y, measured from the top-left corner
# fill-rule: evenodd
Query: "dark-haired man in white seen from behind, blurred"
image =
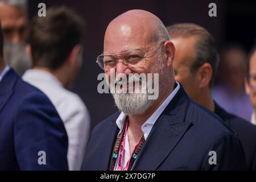
<path fill-rule="evenodd" d="M 85 24 L 75 11 L 53 7 L 46 17 L 35 16 L 28 35 L 33 69 L 23 79 L 42 90 L 56 107 L 68 134 L 68 164 L 79 170 L 90 129 L 88 110 L 81 98 L 65 89 L 82 64 Z"/>

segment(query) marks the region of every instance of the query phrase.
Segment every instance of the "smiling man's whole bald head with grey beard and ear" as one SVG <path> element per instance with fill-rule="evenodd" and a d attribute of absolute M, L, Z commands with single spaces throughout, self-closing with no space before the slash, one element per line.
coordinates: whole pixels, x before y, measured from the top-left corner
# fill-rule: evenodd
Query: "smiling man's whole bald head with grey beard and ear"
<path fill-rule="evenodd" d="M 124 113 L 142 114 L 146 110 L 151 113 L 171 93 L 175 81 L 172 69 L 175 47 L 166 27 L 154 14 L 130 10 L 117 16 L 105 32 L 104 54 L 98 63 L 104 65 L 103 68 L 112 68 L 104 69 L 109 82 L 112 79 L 111 73 L 122 81 L 123 75 L 130 77 L 134 74 L 150 74 L 152 77 L 145 80 L 154 82 L 157 90 L 155 93 L 158 96 L 154 101 L 148 99 L 149 93 L 144 93 L 142 89 L 142 85 L 148 85 L 144 80 L 139 86 L 141 94 L 114 93 L 115 104 Z M 135 89 L 128 82 L 125 85 L 129 86 L 122 86 L 122 92 Z"/>

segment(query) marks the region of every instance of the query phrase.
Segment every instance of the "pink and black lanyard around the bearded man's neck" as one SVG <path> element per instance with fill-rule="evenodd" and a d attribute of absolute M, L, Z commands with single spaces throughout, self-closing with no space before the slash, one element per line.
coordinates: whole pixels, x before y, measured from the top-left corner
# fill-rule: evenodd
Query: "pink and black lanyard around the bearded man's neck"
<path fill-rule="evenodd" d="M 113 155 L 112 155 L 112 160 L 110 164 L 110 170 L 113 171 L 115 167 L 115 163 L 117 162 L 117 156 L 119 154 L 119 159 L 118 159 L 118 164 L 117 164 L 117 171 L 122 170 L 122 162 L 123 162 L 123 154 L 125 151 L 125 137 L 126 137 L 126 132 L 127 132 L 127 127 L 128 127 L 128 122 L 129 118 L 126 117 L 125 119 L 125 125 L 122 129 L 122 132 L 118 135 L 118 138 L 115 142 L 114 150 L 113 150 Z M 131 168 L 133 167 L 135 160 L 137 159 L 137 155 L 139 154 L 139 151 L 141 150 L 141 147 L 145 141 L 144 135 L 142 135 L 141 139 L 138 141 L 136 146 L 133 149 L 133 152 L 131 153 L 130 159 L 128 160 L 126 166 L 125 166 L 125 171 L 130 171 Z"/>

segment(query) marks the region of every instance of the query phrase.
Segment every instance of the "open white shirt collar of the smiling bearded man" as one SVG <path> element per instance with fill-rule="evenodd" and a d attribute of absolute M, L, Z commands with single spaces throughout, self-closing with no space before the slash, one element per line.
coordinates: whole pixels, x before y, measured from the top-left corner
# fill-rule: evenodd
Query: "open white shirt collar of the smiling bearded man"
<path fill-rule="evenodd" d="M 174 98 L 177 91 L 180 89 L 179 82 L 176 82 L 176 84 L 177 84 L 176 88 L 170 93 L 170 95 L 166 98 L 166 100 L 163 101 L 163 103 L 158 107 L 158 109 L 156 109 L 155 112 L 141 126 L 142 132 L 144 134 L 146 134 L 146 136 L 144 136 L 145 138 L 147 137 L 147 135 L 151 131 L 152 126 L 155 124 L 155 122 L 159 118 L 160 114 L 162 114 L 163 110 L 167 107 L 167 105 L 171 102 L 172 98 Z M 127 114 L 122 112 L 119 115 L 119 117 L 117 118 L 116 123 L 117 123 L 117 126 L 120 129 L 120 131 L 123 128 L 126 116 L 127 116 Z M 151 127 L 147 127 L 147 126 L 151 126 Z"/>

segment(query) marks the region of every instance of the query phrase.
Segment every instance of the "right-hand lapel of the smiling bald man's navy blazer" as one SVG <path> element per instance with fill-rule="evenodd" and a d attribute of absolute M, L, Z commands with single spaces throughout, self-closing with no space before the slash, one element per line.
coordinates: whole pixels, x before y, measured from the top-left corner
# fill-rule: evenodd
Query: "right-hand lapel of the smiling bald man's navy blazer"
<path fill-rule="evenodd" d="M 185 119 L 189 98 L 182 86 L 152 127 L 133 170 L 156 170 L 188 130 L 192 121 Z"/>

